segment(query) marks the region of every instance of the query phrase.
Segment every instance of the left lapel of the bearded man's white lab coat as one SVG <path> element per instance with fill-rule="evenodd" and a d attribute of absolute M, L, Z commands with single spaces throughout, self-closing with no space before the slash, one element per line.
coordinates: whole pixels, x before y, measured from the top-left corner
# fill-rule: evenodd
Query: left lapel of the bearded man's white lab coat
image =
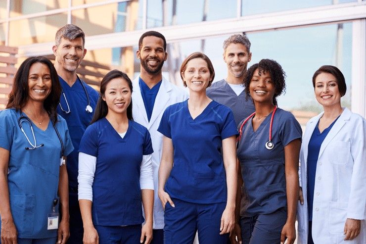
<path fill-rule="evenodd" d="M 133 93 L 132 93 L 132 108 L 134 111 L 134 115 L 137 114 L 139 118 L 142 118 L 142 121 L 139 119 L 139 123 L 145 127 L 149 124 L 147 119 L 147 113 L 145 109 L 145 104 L 143 103 L 140 85 L 138 84 L 139 76 L 133 81 Z"/>

